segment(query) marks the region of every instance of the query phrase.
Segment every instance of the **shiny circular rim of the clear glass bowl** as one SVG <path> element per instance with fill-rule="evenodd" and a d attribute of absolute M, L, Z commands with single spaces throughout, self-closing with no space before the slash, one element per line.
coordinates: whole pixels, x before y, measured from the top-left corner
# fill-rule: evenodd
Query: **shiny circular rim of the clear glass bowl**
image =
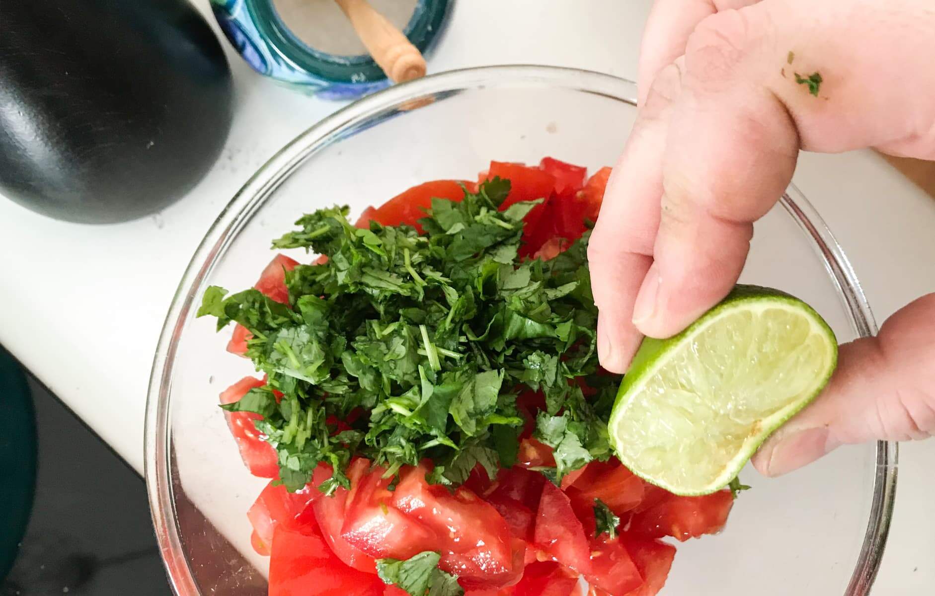
<path fill-rule="evenodd" d="M 634 82 L 604 73 L 560 66 L 481 66 L 447 71 L 396 85 L 339 109 L 295 136 L 266 161 L 223 207 L 195 249 L 172 298 L 153 357 L 143 441 L 144 476 L 153 528 L 165 563 L 169 585 L 178 596 L 202 595 L 185 558 L 174 515 L 169 433 L 171 376 L 178 340 L 189 321 L 194 299 L 204 291 L 205 281 L 219 256 L 233 242 L 237 231 L 252 218 L 256 209 L 263 205 L 269 193 L 296 167 L 318 150 L 356 132 L 356 125 L 360 122 L 381 114 L 400 113 L 411 109 L 412 106 L 418 108 L 419 105 L 415 102 L 426 97 L 446 96 L 454 92 L 480 90 L 490 86 L 561 88 L 604 95 L 636 106 L 637 93 Z M 797 221 L 802 231 L 813 239 L 813 248 L 825 263 L 827 273 L 837 287 L 857 335 L 866 337 L 875 334 L 877 324 L 860 282 L 825 221 L 794 185 L 789 186 L 780 203 L 790 217 Z M 895 442 L 880 441 L 876 445 L 870 518 L 850 583 L 843 596 L 869 594 L 879 570 L 893 515 L 898 448 Z"/>

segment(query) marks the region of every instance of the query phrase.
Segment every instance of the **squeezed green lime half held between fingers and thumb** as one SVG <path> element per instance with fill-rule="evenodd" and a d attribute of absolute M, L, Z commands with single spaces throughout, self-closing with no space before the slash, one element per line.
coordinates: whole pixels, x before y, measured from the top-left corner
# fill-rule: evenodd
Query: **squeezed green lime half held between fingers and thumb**
<path fill-rule="evenodd" d="M 666 490 L 723 489 L 837 362 L 834 333 L 811 306 L 737 286 L 682 333 L 643 340 L 613 404 L 611 444 Z"/>

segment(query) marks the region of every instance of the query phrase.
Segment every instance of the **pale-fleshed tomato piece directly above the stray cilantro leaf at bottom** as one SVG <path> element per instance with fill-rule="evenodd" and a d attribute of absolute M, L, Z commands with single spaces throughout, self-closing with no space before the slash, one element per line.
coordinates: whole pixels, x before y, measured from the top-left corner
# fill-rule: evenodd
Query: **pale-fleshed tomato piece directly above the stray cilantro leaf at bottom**
<path fill-rule="evenodd" d="M 361 458 L 352 462 L 352 467 L 366 467 L 369 463 Z M 424 550 L 436 549 L 435 532 L 393 506 L 399 488 L 387 490 L 391 478 L 382 478 L 384 472 L 379 466 L 367 472 L 349 468 L 351 491 L 341 536 L 351 546 L 376 559 L 410 559 Z"/>

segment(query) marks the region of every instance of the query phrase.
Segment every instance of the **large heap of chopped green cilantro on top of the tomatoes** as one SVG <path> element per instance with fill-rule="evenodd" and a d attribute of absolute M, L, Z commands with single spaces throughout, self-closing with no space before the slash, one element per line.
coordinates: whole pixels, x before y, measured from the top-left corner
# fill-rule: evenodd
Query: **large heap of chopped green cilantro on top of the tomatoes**
<path fill-rule="evenodd" d="M 328 257 L 285 273 L 288 305 L 256 290 L 205 292 L 198 316 L 252 333 L 246 355 L 267 386 L 224 409 L 264 417 L 256 426 L 287 489 L 321 462 L 333 469 L 321 490 L 348 488 L 354 456 L 388 475 L 428 459 L 428 480 L 453 487 L 479 464 L 493 478 L 516 459 L 526 391 L 545 396 L 535 433 L 557 467 L 543 474 L 560 482 L 610 457 L 619 377 L 597 374 L 589 234 L 551 261 L 521 260 L 523 218 L 538 202 L 500 211 L 509 192 L 494 178 L 462 201 L 433 199 L 423 234 L 358 229 L 347 207 L 319 209 L 273 242 Z M 579 380 L 596 392 L 585 397 Z M 337 420 L 350 429 L 338 433 Z"/>

